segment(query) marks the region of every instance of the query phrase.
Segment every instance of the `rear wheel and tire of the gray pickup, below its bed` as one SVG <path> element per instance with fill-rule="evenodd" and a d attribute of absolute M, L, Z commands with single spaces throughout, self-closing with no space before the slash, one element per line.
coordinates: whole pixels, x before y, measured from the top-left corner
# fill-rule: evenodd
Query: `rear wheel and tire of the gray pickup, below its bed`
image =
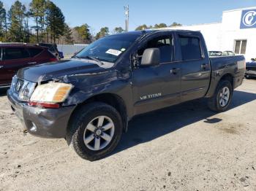
<path fill-rule="evenodd" d="M 233 96 L 233 86 L 227 79 L 217 85 L 214 95 L 208 99 L 208 107 L 214 112 L 225 112 Z"/>

